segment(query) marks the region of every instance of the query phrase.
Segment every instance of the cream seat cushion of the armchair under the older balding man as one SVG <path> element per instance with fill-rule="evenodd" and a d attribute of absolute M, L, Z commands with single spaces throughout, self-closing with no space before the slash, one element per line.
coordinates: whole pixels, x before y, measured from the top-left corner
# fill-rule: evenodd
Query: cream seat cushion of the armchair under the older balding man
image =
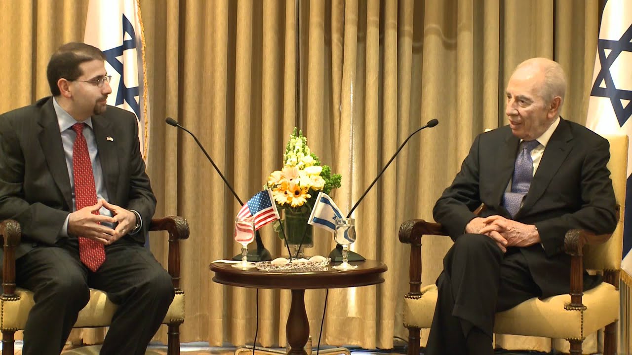
<path fill-rule="evenodd" d="M 435 285 L 423 287 L 421 298 L 405 298 L 404 325 L 430 328 L 436 303 Z M 582 303 L 586 310 L 566 309 L 569 303 L 568 294 L 529 299 L 511 310 L 496 313 L 494 333 L 583 339 L 619 317 L 619 291 L 606 282 L 584 292 Z"/>

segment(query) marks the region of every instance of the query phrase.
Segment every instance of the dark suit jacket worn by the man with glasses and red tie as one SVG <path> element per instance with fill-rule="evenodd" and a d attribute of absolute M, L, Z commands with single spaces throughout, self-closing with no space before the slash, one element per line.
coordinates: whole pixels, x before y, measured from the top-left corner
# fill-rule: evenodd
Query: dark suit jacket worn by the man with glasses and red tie
<path fill-rule="evenodd" d="M 108 106 L 104 114 L 92 116 L 92 126 L 109 203 L 138 211 L 143 231 L 126 238 L 144 243 L 156 200 L 140 155 L 136 117 Z M 20 222 L 22 243 L 16 257 L 38 244 L 58 243 L 72 207 L 52 97 L 1 115 L 0 220 Z"/>

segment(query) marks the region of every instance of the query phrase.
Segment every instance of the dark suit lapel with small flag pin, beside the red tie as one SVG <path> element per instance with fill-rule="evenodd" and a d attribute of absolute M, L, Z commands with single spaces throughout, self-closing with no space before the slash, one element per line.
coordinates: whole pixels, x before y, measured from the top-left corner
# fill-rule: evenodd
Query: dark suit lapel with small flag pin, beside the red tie
<path fill-rule="evenodd" d="M 99 160 L 106 184 L 107 196 L 111 203 L 116 203 L 116 186 L 118 184 L 118 155 L 116 154 L 116 134 L 109 120 L 101 115 L 92 116 L 94 138 L 97 142 Z"/>

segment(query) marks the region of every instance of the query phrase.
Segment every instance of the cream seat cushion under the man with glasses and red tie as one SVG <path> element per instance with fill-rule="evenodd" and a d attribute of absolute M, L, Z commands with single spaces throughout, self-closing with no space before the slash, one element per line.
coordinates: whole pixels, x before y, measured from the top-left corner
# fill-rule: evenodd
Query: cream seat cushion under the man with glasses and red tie
<path fill-rule="evenodd" d="M 35 304 L 33 292 L 19 287 L 15 291 L 16 298 L 0 299 L 2 307 L 0 311 L 0 330 L 21 330 L 27 323 L 28 312 Z M 110 325 L 116 304 L 107 299 L 103 291 L 90 289 L 90 301 L 79 312 L 75 328 L 105 327 Z M 162 321 L 164 324 L 171 322 L 182 323 L 185 319 L 185 292 L 176 291 L 176 296 L 169 306 L 167 315 Z"/>

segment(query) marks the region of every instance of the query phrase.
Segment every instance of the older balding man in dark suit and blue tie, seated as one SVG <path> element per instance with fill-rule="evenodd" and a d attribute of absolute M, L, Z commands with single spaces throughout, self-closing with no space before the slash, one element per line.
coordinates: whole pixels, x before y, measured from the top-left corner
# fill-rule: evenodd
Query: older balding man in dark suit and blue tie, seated
<path fill-rule="evenodd" d="M 494 354 L 495 312 L 568 293 L 566 231 L 614 231 L 608 141 L 559 117 L 565 90 L 559 64 L 521 63 L 506 89 L 509 125 L 477 136 L 437 201 L 434 218 L 454 246 L 437 279 L 427 355 Z M 585 289 L 599 282 L 585 274 Z"/>

